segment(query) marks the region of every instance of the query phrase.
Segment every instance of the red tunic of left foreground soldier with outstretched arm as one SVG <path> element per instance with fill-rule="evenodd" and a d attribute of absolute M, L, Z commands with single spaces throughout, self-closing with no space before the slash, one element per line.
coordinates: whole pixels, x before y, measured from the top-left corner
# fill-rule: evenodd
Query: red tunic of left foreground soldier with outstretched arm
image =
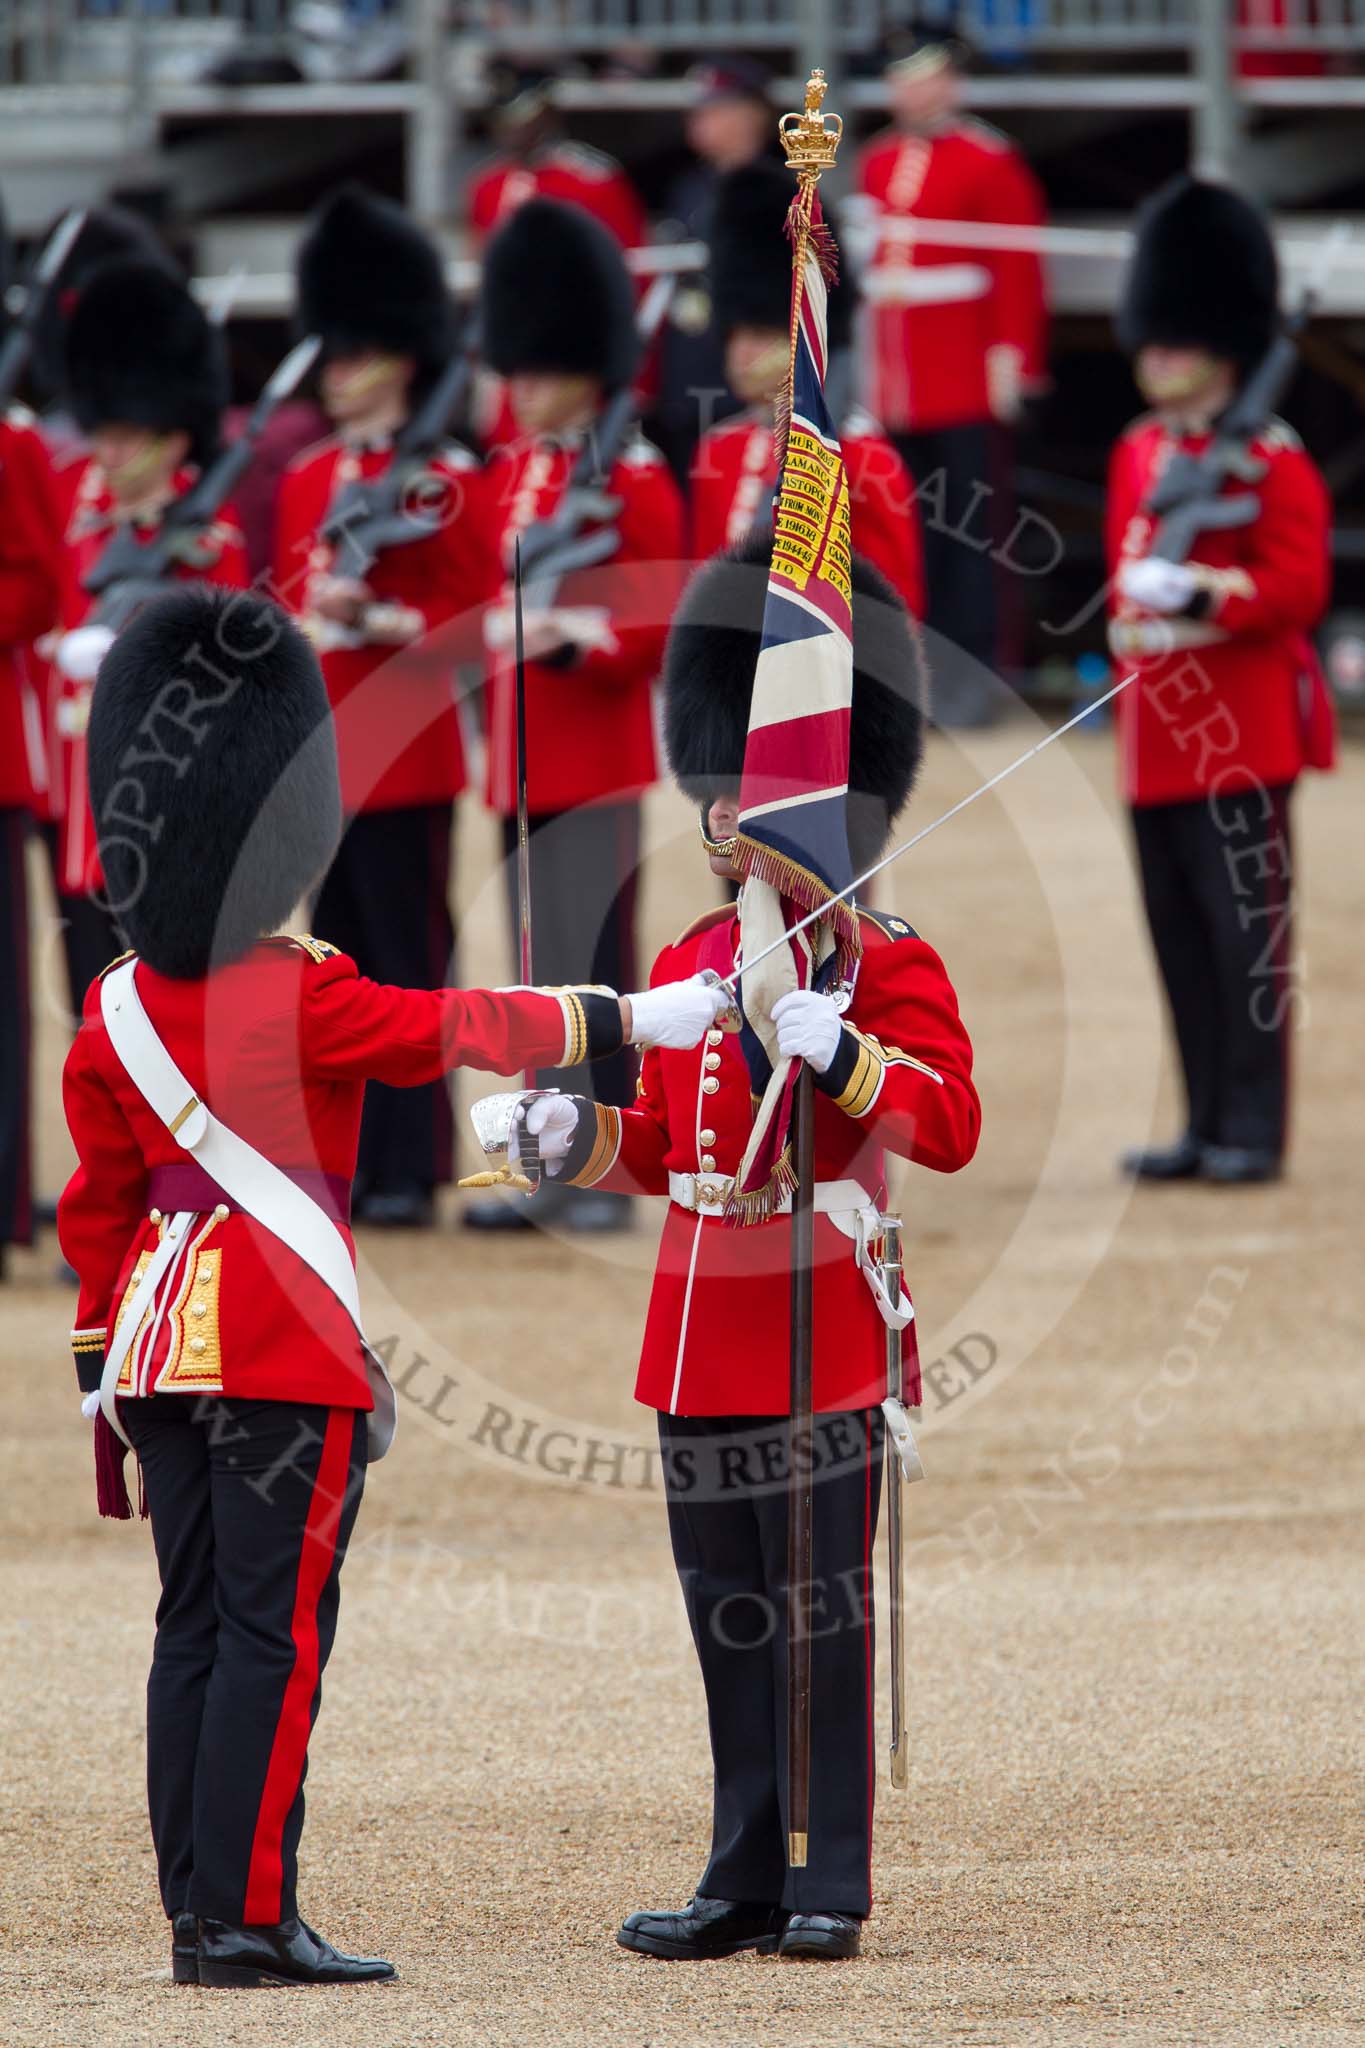
<path fill-rule="evenodd" d="M 274 1165 L 323 1171 L 346 1188 L 366 1081 L 411 1087 L 452 1067 L 520 1073 L 620 1044 L 614 997 L 383 987 L 309 938 L 264 940 L 207 981 L 170 981 L 139 967 L 137 993 L 215 1116 Z M 98 981 L 65 1063 L 63 1100 L 80 1165 L 57 1231 L 80 1276 L 72 1343 L 80 1382 L 92 1389 L 137 1260 L 160 1235 L 147 1214 L 147 1176 L 192 1163 L 115 1055 Z M 221 1221 L 203 1210 L 190 1245 L 196 1270 L 186 1270 L 180 1294 L 170 1290 L 139 1393 L 370 1407 L 350 1317 L 289 1245 L 241 1210 Z M 207 1303 L 194 1321 L 182 1298 L 192 1288 Z"/>

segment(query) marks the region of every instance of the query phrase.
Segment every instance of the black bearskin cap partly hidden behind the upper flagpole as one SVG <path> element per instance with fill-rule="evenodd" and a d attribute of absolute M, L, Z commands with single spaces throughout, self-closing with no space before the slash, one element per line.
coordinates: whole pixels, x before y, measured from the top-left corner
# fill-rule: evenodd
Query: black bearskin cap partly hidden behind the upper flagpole
<path fill-rule="evenodd" d="M 745 164 L 716 184 L 710 217 L 710 301 L 720 338 L 733 328 L 780 328 L 792 317 L 792 244 L 786 215 L 796 199 L 796 180 L 782 164 Z M 839 244 L 839 217 L 825 207 L 825 223 Z M 825 317 L 829 350 L 843 348 L 853 328 L 857 289 L 847 264 L 829 289 Z"/>

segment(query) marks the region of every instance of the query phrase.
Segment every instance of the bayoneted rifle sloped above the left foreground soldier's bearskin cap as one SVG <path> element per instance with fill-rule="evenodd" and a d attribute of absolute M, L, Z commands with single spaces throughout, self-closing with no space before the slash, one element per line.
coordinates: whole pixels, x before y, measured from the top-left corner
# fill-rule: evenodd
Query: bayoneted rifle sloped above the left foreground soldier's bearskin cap
<path fill-rule="evenodd" d="M 309 334 L 289 350 L 256 399 L 241 434 L 209 463 L 182 498 L 166 508 L 149 541 L 139 541 L 133 526 L 119 526 L 82 580 L 94 598 L 86 627 L 117 633 L 141 604 L 166 590 L 178 567 L 194 565 L 205 532 L 250 469 L 270 416 L 299 389 L 319 348 L 317 336 Z"/>

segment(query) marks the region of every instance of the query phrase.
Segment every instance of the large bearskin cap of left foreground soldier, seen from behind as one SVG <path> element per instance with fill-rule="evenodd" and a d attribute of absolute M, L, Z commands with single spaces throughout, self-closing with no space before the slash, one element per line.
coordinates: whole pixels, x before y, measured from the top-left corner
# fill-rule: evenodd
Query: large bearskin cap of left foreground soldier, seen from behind
<path fill-rule="evenodd" d="M 327 690 L 293 621 L 209 584 L 137 612 L 94 684 L 90 805 L 147 967 L 192 981 L 274 932 L 342 834 Z"/>

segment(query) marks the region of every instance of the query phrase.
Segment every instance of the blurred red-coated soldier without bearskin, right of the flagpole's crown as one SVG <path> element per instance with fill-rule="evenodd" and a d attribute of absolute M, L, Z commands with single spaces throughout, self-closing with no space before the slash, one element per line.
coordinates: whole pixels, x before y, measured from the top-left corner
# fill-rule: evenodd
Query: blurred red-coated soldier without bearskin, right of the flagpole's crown
<path fill-rule="evenodd" d="M 960 43 L 892 39 L 886 68 L 894 125 L 857 162 L 866 238 L 862 272 L 868 410 L 900 449 L 925 528 L 933 713 L 945 725 L 988 715 L 976 664 L 999 662 L 993 516 L 999 428 L 1019 416 L 1046 373 L 1046 303 L 1038 254 L 909 240 L 911 221 L 1038 227 L 1044 201 L 1027 164 L 993 127 L 964 115 Z M 999 530 L 997 530 L 999 526 Z M 954 664 L 960 647 L 972 659 Z"/>

